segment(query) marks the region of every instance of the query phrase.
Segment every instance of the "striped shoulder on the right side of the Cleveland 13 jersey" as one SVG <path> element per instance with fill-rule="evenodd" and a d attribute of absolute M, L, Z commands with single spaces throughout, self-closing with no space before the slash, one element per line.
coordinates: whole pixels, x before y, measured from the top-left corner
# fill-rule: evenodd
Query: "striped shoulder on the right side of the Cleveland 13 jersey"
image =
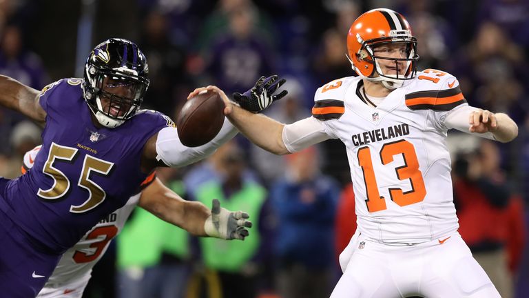
<path fill-rule="evenodd" d="M 446 111 L 466 103 L 457 79 L 448 72 L 427 69 L 417 73 L 408 87 L 406 106 L 411 110 Z"/>

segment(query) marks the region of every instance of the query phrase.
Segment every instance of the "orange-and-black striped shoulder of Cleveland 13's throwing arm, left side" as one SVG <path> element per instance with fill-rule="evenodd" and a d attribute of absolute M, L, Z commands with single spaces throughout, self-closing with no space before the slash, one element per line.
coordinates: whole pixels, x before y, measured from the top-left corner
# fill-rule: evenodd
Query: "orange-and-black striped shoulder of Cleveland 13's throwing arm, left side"
<path fill-rule="evenodd" d="M 345 112 L 344 98 L 346 90 L 357 80 L 356 77 L 344 77 L 318 88 L 314 95 L 315 102 L 312 108 L 312 116 L 320 120 L 342 117 Z"/>

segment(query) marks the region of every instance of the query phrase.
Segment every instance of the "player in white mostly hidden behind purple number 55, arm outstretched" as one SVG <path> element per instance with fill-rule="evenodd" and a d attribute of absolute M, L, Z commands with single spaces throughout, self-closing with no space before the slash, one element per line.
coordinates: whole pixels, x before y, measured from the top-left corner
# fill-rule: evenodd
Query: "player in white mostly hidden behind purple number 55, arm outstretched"
<path fill-rule="evenodd" d="M 25 153 L 23 174 L 32 168 L 40 148 L 41 146 L 37 146 Z M 211 212 L 203 203 L 183 200 L 165 187 L 156 178 L 155 172 L 141 183 L 139 190 L 141 192 L 130 197 L 125 206 L 101 219 L 75 246 L 63 254 L 37 297 L 80 298 L 90 280 L 92 268 L 103 257 L 110 241 L 121 232 L 136 206 L 198 236 L 244 240 L 248 235 L 246 228 L 251 227 L 245 212 L 229 212 L 220 208 L 218 200 L 214 200 Z"/>

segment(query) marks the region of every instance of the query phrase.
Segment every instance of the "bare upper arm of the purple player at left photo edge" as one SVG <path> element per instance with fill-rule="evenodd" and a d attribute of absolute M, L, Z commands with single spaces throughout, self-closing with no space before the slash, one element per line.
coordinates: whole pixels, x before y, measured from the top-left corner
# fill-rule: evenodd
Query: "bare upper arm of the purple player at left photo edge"
<path fill-rule="evenodd" d="M 39 103 L 39 94 L 38 90 L 0 75 L 0 105 L 21 112 L 43 126 L 46 112 Z"/>

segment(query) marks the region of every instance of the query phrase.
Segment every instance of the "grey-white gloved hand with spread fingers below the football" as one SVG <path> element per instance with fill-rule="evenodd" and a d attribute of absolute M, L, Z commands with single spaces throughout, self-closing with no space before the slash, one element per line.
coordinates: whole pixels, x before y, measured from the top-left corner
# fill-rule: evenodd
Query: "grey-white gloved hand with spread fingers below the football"
<path fill-rule="evenodd" d="M 247 212 L 231 212 L 220 207 L 220 201 L 213 199 L 211 215 L 204 223 L 204 230 L 210 237 L 220 239 L 244 240 L 249 235 L 247 228 L 251 228 L 251 221 Z"/>

